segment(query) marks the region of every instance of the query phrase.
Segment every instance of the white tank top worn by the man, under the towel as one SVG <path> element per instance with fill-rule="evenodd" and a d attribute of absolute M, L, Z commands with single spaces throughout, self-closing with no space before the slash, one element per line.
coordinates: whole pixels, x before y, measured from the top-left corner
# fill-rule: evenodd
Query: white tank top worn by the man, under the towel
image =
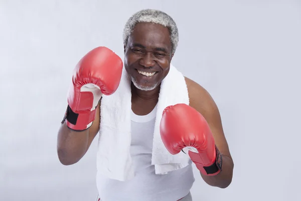
<path fill-rule="evenodd" d="M 131 146 L 135 176 L 118 181 L 97 173 L 102 201 L 176 201 L 187 195 L 195 181 L 191 163 L 168 174 L 155 174 L 152 165 L 153 135 L 157 106 L 145 116 L 131 113 Z"/>

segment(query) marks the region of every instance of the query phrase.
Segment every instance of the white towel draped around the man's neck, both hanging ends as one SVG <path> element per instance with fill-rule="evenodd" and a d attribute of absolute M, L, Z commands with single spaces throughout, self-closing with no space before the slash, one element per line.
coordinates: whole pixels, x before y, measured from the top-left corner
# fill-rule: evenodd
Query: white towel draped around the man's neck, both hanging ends
<path fill-rule="evenodd" d="M 186 167 L 189 156 L 183 152 L 172 155 L 165 148 L 160 136 L 163 110 L 172 105 L 189 105 L 184 76 L 173 65 L 161 83 L 155 122 L 152 164 L 156 174 Z M 111 179 L 131 179 L 134 169 L 130 156 L 131 143 L 131 88 L 130 79 L 123 68 L 118 89 L 112 95 L 103 95 L 100 107 L 100 130 L 97 152 L 97 170 Z"/>

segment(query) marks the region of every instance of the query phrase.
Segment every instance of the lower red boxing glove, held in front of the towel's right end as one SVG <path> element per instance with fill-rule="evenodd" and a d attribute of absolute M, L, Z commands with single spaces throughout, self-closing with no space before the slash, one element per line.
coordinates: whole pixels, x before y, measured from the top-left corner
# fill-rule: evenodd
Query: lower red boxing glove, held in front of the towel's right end
<path fill-rule="evenodd" d="M 169 106 L 163 111 L 160 123 L 162 141 L 171 154 L 178 154 L 185 147 L 191 160 L 204 175 L 217 175 L 222 168 L 222 157 L 205 118 L 186 104 Z"/>

